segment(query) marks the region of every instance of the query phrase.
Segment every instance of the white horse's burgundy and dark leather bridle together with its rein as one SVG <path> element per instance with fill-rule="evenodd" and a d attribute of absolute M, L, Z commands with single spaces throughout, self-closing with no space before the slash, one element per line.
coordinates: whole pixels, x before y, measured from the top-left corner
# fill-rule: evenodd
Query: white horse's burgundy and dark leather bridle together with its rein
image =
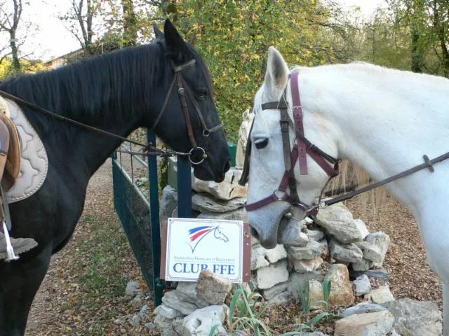
<path fill-rule="evenodd" d="M 311 216 L 312 218 L 318 214 L 319 209 L 324 209 L 332 204 L 342 202 L 344 200 L 349 200 L 356 195 L 360 195 L 361 193 L 365 193 L 369 190 L 373 190 L 380 186 L 384 186 L 387 183 L 392 181 L 396 181 L 397 179 L 401 179 L 405 176 L 413 174 L 415 172 L 419 172 L 422 169 L 429 169 L 431 173 L 434 172 L 434 164 L 449 159 L 449 152 L 444 153 L 443 155 L 438 156 L 430 160 L 427 155 L 423 155 L 424 162 L 420 165 L 416 165 L 410 169 L 407 169 L 403 172 L 400 172 L 396 175 L 390 176 L 387 179 L 377 181 L 375 183 L 371 183 L 368 186 L 364 186 L 362 188 L 350 191 L 349 193 L 344 193 L 343 195 L 336 196 L 330 198 L 328 200 L 321 201 L 321 197 L 323 196 L 323 192 L 328 186 L 328 183 L 333 177 L 339 174 L 339 163 L 340 159 L 333 158 L 331 155 L 321 151 L 320 148 L 312 144 L 306 137 L 304 137 L 304 129 L 302 127 L 302 106 L 300 103 L 299 90 L 297 86 L 297 73 L 290 74 L 290 85 L 292 87 L 292 100 L 293 100 L 293 117 L 295 119 L 295 123 L 293 124 L 290 118 L 288 117 L 288 104 L 286 101 L 286 90 L 284 90 L 282 98 L 279 102 L 269 102 L 262 104 L 262 110 L 266 109 L 278 109 L 281 113 L 281 132 L 282 132 L 282 143 L 283 143 L 283 156 L 284 156 L 284 166 L 286 168 L 281 183 L 279 184 L 279 188 L 274 190 L 272 195 L 263 198 L 260 201 L 246 204 L 246 211 L 254 211 L 260 209 L 262 207 L 267 206 L 273 202 L 288 202 L 293 207 L 298 207 L 302 211 L 306 213 L 306 216 Z M 290 139 L 288 136 L 288 130 L 290 126 L 293 124 L 293 129 L 295 130 L 295 145 L 293 146 L 293 150 L 290 152 Z M 251 125 L 250 132 L 248 134 L 248 141 L 246 143 L 246 153 L 245 153 L 245 162 L 243 164 L 243 172 L 239 184 L 244 186 L 248 182 L 248 176 L 250 172 L 250 153 L 251 153 L 251 139 L 250 134 L 253 130 L 253 124 Z M 266 144 L 266 143 L 265 143 Z M 257 147 L 258 144 L 255 144 Z M 262 148 L 262 147 L 260 147 Z M 319 200 L 317 204 L 307 205 L 304 202 L 300 201 L 300 197 L 297 195 L 297 181 L 294 175 L 294 167 L 296 160 L 299 160 L 300 163 L 300 174 L 307 174 L 307 165 L 306 161 L 301 158 L 305 158 L 304 153 L 309 154 L 309 156 L 318 163 L 318 165 L 328 174 L 329 179 L 323 189 L 321 190 L 321 194 L 319 196 Z M 298 159 L 299 158 L 299 159 Z M 331 166 L 333 165 L 333 167 Z M 286 192 L 287 187 L 290 189 L 290 195 Z M 348 190 L 345 188 L 345 190 Z"/>

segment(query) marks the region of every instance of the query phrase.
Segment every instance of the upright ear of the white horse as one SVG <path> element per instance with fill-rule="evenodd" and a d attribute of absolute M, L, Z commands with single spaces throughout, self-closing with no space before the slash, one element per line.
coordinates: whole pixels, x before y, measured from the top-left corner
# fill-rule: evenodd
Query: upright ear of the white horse
<path fill-rule="evenodd" d="M 288 66 L 281 52 L 274 47 L 268 48 L 267 72 L 264 84 L 272 97 L 279 97 L 288 83 Z"/>

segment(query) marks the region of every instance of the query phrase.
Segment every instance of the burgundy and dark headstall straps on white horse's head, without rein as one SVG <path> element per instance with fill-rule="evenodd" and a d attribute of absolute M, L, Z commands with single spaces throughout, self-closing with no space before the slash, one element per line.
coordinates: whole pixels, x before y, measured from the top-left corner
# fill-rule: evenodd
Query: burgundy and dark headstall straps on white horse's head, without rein
<path fill-rule="evenodd" d="M 302 124 L 302 106 L 300 101 L 300 92 L 298 90 L 298 73 L 293 72 L 290 74 L 290 85 L 293 100 L 293 118 L 294 121 L 288 117 L 288 104 L 286 99 L 287 87 L 282 94 L 279 102 L 268 102 L 262 104 L 262 110 L 276 109 L 281 113 L 281 119 L 279 121 L 282 133 L 282 145 L 283 145 L 283 161 L 285 166 L 285 172 L 282 176 L 279 187 L 274 190 L 272 195 L 263 198 L 260 201 L 246 204 L 246 211 L 254 211 L 268 204 L 274 202 L 288 202 L 292 207 L 297 207 L 302 211 L 305 211 L 308 216 L 316 216 L 319 210 L 318 205 L 308 205 L 301 202 L 299 195 L 297 194 L 297 180 L 295 179 L 295 164 L 299 161 L 300 174 L 307 175 L 307 154 L 323 169 L 329 176 L 329 180 L 339 174 L 338 164 L 340 159 L 333 158 L 331 155 L 321 151 L 320 148 L 312 144 L 306 137 L 304 137 L 304 127 Z M 253 124 L 251 125 L 250 134 L 253 131 Z M 289 130 L 292 125 L 295 130 L 295 144 L 293 149 L 290 148 Z M 250 134 L 248 136 L 248 142 L 246 144 L 245 163 L 243 165 L 243 173 L 239 184 L 244 186 L 248 182 L 249 169 L 250 169 L 250 151 L 251 151 L 251 139 Z M 257 147 L 257 144 L 256 144 Z M 327 185 L 327 183 L 326 183 Z M 287 187 L 290 190 L 290 195 L 287 193 Z"/>

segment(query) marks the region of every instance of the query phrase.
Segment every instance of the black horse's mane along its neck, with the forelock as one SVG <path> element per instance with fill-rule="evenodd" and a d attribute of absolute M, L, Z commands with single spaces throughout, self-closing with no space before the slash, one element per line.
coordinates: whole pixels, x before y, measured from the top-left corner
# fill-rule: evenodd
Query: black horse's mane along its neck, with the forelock
<path fill-rule="evenodd" d="M 197 73 L 206 75 L 212 92 L 212 81 L 204 73 L 207 68 L 203 60 L 192 45 L 186 45 L 196 59 Z M 173 78 L 166 53 L 166 45 L 161 41 L 114 50 L 50 71 L 7 79 L 0 83 L 0 90 L 91 125 L 100 122 L 104 125 L 105 118 L 108 123 L 120 123 L 126 116 L 147 111 L 152 99 L 164 98 L 150 94 L 160 73 L 165 81 Z M 48 130 L 48 116 L 31 109 L 24 111 L 30 121 Z"/>

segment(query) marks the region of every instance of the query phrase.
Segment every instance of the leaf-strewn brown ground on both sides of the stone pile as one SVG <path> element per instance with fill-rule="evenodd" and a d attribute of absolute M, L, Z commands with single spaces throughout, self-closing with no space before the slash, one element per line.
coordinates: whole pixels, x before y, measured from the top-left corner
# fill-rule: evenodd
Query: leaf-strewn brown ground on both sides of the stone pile
<path fill-rule="evenodd" d="M 50 269 L 32 304 L 27 336 L 149 335 L 145 328 L 131 328 L 129 323 L 116 322 L 117 317 L 136 311 L 129 302 L 123 300 L 126 281 L 138 280 L 142 287 L 145 287 L 145 283 L 129 244 L 123 238 L 123 232 L 119 232 L 112 195 L 112 168 L 108 160 L 91 179 L 84 213 L 72 240 L 53 256 Z M 375 213 L 364 211 L 357 199 L 348 202 L 347 207 L 353 212 L 354 218 L 361 218 L 368 225 L 370 232 L 382 230 L 390 235 L 391 244 L 384 267 L 390 274 L 389 284 L 394 297 L 433 300 L 441 307 L 441 283 L 427 265 L 417 224 L 408 211 L 391 197 L 387 207 Z M 84 251 L 83 246 L 86 241 L 93 241 L 93 247 L 90 248 L 95 249 L 98 243 L 93 240 L 93 232 L 99 223 L 109 225 L 107 228 L 116 232 L 109 237 L 120 236 L 120 240 L 114 243 L 118 246 L 110 252 L 120 260 L 117 268 L 110 271 L 114 274 L 106 274 L 104 278 L 107 281 L 100 279 L 103 282 L 98 287 L 91 287 L 95 288 L 95 293 L 91 293 L 92 289 L 86 288 L 82 279 L 89 272 L 92 273 L 88 267 L 93 262 L 93 252 Z M 116 251 L 121 251 L 118 257 L 114 254 Z M 105 254 L 104 258 L 107 258 L 108 253 Z M 100 262 L 94 266 L 100 269 L 102 265 Z M 100 269 L 98 272 L 106 271 Z M 112 277 L 119 275 L 119 278 Z M 95 278 L 88 279 L 93 281 Z M 279 314 L 280 320 L 276 321 L 276 316 L 270 316 L 270 324 L 281 323 L 284 317 Z"/>

